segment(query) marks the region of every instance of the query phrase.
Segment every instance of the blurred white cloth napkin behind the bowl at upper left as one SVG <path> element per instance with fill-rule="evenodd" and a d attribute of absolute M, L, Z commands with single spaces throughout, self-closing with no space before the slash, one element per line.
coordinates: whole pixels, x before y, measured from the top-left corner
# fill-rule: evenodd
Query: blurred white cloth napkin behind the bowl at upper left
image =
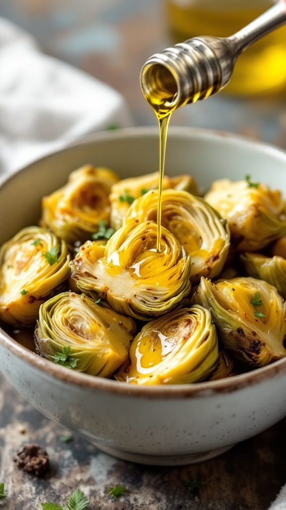
<path fill-rule="evenodd" d="M 44 55 L 33 37 L 0 18 L 0 173 L 110 125 L 132 125 L 119 92 Z"/>

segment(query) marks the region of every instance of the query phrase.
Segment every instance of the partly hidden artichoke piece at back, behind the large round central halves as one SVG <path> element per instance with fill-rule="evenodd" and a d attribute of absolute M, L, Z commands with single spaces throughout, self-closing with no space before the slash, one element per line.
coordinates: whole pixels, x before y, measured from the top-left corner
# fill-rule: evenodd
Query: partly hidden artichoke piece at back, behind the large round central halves
<path fill-rule="evenodd" d="M 123 218 L 129 206 L 147 191 L 158 188 L 159 172 L 142 175 L 141 177 L 130 177 L 114 184 L 111 189 L 110 202 L 110 225 L 119 230 L 123 225 Z M 164 175 L 162 189 L 174 188 L 186 190 L 193 195 L 198 194 L 197 185 L 190 175 L 178 175 L 178 177 L 167 177 Z"/>

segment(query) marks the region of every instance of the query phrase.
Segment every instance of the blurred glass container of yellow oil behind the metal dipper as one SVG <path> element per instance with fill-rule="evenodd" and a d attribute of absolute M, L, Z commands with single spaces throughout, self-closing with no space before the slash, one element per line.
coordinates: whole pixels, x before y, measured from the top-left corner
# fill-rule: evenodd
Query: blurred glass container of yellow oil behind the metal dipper
<path fill-rule="evenodd" d="M 271 0 L 166 0 L 172 43 L 192 37 L 228 37 L 274 4 Z M 237 60 L 224 92 L 259 95 L 286 88 L 286 26 L 252 44 Z"/>

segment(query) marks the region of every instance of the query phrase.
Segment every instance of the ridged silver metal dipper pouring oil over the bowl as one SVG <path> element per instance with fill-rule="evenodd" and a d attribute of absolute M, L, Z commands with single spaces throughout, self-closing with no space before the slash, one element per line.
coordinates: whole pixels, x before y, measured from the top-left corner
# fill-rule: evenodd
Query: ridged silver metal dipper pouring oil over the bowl
<path fill-rule="evenodd" d="M 187 103 L 216 94 L 230 81 L 239 55 L 285 22 L 286 0 L 280 0 L 230 37 L 194 37 L 164 49 L 141 69 L 145 98 L 162 118 Z"/>

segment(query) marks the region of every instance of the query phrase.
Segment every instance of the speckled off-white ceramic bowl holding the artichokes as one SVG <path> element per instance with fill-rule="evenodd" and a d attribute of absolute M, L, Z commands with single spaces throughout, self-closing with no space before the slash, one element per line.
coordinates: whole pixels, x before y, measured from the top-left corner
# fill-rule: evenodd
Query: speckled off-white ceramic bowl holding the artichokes
<path fill-rule="evenodd" d="M 158 170 L 158 130 L 98 133 L 0 183 L 0 243 L 37 223 L 41 197 L 85 163 L 122 177 Z M 216 179 L 286 189 L 286 153 L 238 136 L 169 129 L 166 174 L 190 173 L 207 190 Z M 41 358 L 0 330 L 0 370 L 38 411 L 123 460 L 183 465 L 212 458 L 286 416 L 286 358 L 231 378 L 138 387 L 79 373 Z"/>

